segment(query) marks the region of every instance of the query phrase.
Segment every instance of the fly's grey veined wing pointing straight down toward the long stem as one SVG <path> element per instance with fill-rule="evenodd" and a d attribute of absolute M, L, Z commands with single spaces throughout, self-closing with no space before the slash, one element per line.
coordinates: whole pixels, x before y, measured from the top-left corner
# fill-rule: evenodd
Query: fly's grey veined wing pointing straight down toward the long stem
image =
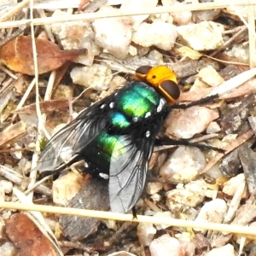
<path fill-rule="evenodd" d="M 113 212 L 128 212 L 140 198 L 154 137 L 121 136 L 113 148 L 109 169 L 109 201 Z"/>

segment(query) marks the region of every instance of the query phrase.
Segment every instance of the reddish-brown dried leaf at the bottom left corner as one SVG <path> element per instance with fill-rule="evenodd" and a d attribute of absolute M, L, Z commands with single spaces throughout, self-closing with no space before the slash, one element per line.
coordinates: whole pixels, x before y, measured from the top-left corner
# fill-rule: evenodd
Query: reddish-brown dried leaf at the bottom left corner
<path fill-rule="evenodd" d="M 20 249 L 18 256 L 56 255 L 49 240 L 26 214 L 16 213 L 5 224 L 9 239 Z"/>

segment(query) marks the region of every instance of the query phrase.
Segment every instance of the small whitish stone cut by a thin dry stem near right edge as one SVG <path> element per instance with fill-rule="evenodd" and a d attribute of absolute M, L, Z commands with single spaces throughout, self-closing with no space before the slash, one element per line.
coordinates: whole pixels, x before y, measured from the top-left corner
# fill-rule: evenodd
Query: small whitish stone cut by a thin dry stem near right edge
<path fill-rule="evenodd" d="M 222 192 L 226 195 L 234 196 L 236 193 L 237 188 L 241 183 L 245 183 L 245 176 L 244 173 L 240 173 L 236 175 L 236 177 L 231 177 L 230 180 L 224 183 L 224 187 Z M 246 189 L 242 194 L 241 198 L 247 198 L 248 190 Z"/>

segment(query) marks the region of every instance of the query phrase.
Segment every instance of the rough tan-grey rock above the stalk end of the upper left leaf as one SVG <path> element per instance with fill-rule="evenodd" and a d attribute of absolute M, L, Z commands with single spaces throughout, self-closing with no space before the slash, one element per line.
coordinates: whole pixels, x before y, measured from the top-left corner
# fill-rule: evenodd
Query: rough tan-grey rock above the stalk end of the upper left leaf
<path fill-rule="evenodd" d="M 55 10 L 53 17 L 68 16 L 67 12 L 60 9 Z M 51 30 L 59 39 L 63 49 L 88 49 L 86 55 L 80 55 L 74 61 L 92 65 L 94 56 L 99 55 L 99 47 L 95 43 L 95 32 L 93 32 L 89 21 L 76 20 L 51 24 Z"/>

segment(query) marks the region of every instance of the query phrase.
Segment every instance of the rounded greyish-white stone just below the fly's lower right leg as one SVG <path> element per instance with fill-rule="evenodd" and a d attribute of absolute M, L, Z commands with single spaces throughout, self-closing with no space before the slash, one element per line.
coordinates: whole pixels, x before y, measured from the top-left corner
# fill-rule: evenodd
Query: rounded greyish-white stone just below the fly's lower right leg
<path fill-rule="evenodd" d="M 206 166 L 205 155 L 199 148 L 178 147 L 160 168 L 160 176 L 171 183 L 188 183 Z"/>

